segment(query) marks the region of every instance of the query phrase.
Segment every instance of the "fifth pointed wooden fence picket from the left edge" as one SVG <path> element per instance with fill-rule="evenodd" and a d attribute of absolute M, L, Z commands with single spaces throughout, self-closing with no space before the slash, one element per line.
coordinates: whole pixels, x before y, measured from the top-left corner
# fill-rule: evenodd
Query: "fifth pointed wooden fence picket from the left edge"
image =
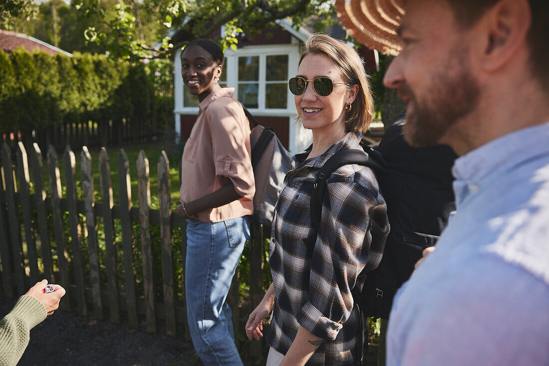
<path fill-rule="evenodd" d="M 65 184 L 67 188 L 67 201 L 69 203 L 69 224 L 73 255 L 72 268 L 74 269 L 74 283 L 76 285 L 76 303 L 79 314 L 86 315 L 87 308 L 86 297 L 84 294 L 85 286 L 81 250 L 82 227 L 80 226 L 78 210 L 76 209 L 76 159 L 69 145 L 67 145 L 65 149 L 65 153 L 63 154 L 63 160 L 65 161 Z"/>

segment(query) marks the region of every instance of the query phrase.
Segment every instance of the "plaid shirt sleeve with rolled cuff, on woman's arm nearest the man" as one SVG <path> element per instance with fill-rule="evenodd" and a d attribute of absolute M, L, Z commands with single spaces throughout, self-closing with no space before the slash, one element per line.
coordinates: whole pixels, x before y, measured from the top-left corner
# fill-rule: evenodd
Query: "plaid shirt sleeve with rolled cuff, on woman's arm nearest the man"
<path fill-rule="evenodd" d="M 352 166 L 357 169 L 352 173 L 350 167 L 328 179 L 309 297 L 297 316 L 303 328 L 322 339 L 337 337 L 354 307 L 351 289 L 362 269 L 378 266 L 389 233 L 385 201 L 373 172 Z"/>

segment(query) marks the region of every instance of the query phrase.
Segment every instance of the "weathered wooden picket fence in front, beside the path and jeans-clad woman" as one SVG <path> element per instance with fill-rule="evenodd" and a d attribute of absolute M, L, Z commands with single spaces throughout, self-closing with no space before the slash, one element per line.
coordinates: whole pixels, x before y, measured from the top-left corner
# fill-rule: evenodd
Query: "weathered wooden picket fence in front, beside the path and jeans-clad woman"
<path fill-rule="evenodd" d="M 117 324 L 122 321 L 121 314 L 126 314 L 127 323 L 135 328 L 140 326 L 140 318 L 144 318 L 144 328 L 149 332 L 156 332 L 158 323 L 164 320 L 166 334 L 175 335 L 179 325 L 179 329 L 182 327 L 183 333 L 189 337 L 184 289 L 182 295 L 174 291 L 176 285 L 183 286 L 184 280 L 175 283 L 172 245 L 172 230 L 181 230 L 181 245 L 176 247 L 181 250 L 184 266 L 186 221 L 172 212 L 170 163 L 166 153 L 163 151 L 158 161 L 159 210 L 151 209 L 149 161 L 143 151 L 134 165 L 137 168 L 138 207 L 132 206 L 130 162 L 124 149 L 120 150 L 116 161 L 119 205 L 113 203 L 107 150 L 103 148 L 99 154 L 100 202 L 95 200 L 92 159 L 87 147 L 82 148 L 80 155 L 82 200 L 77 198 L 76 158 L 70 147 L 66 147 L 63 154 L 65 189 L 61 187 L 58 155 L 52 145 L 48 149 L 50 192 L 47 194 L 42 153 L 38 145 L 34 143 L 27 154 L 24 144 L 19 142 L 16 161 L 8 145 L 2 146 L 0 258 L 3 294 L 8 297 L 20 296 L 36 281 L 47 278 L 50 283 L 60 284 L 67 289 L 67 295 L 61 300 L 65 310 L 76 310 L 82 315 L 93 314 L 99 319 L 108 311 L 111 322 Z M 63 191 L 65 196 L 62 195 Z M 98 230 L 98 218 L 103 222 L 102 232 Z M 117 246 L 115 240 L 116 222 L 118 227 L 121 226 L 121 247 Z M 140 238 L 133 237 L 132 223 L 138 223 Z M 153 268 L 152 245 L 158 245 L 152 243 L 150 229 L 153 225 L 160 227 L 160 271 L 159 268 Z M 100 252 L 98 245 L 98 234 L 103 238 L 103 232 L 104 253 Z M 50 238 L 53 238 L 54 243 L 51 243 Z M 55 250 L 52 244 L 55 244 Z M 136 278 L 134 246 L 141 247 L 142 278 Z M 83 255 L 85 251 L 87 258 Z M 123 252 L 123 278 L 117 271 L 120 251 Z M 102 266 L 100 257 L 105 258 Z M 88 264 L 85 261 L 89 266 L 85 266 Z M 250 245 L 251 307 L 259 303 L 263 295 L 263 261 L 262 242 L 253 240 Z M 87 267 L 89 271 L 85 270 Z M 161 291 L 155 291 L 154 273 L 161 273 Z M 105 277 L 106 281 L 102 281 Z M 142 292 L 137 291 L 136 281 L 143 284 Z M 121 287 L 124 291 L 120 290 L 120 284 L 123 284 Z M 238 323 L 238 285 L 236 276 L 229 296 L 235 330 L 242 325 Z M 160 293 L 163 296 L 159 296 Z M 244 311 L 247 314 L 249 309 Z M 251 348 L 251 354 L 261 356 L 261 347 L 257 342 Z"/>

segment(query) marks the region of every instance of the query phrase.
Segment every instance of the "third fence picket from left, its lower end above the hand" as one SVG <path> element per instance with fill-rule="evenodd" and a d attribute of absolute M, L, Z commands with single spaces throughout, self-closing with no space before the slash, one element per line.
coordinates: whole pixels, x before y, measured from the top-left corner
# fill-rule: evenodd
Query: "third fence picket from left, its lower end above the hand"
<path fill-rule="evenodd" d="M 38 234 L 40 234 L 40 251 L 44 264 L 44 277 L 49 283 L 55 283 L 53 275 L 52 246 L 49 242 L 48 221 L 46 218 L 46 191 L 42 175 L 42 152 L 37 143 L 32 144 L 32 178 L 35 184 L 36 216 L 38 218 Z"/>

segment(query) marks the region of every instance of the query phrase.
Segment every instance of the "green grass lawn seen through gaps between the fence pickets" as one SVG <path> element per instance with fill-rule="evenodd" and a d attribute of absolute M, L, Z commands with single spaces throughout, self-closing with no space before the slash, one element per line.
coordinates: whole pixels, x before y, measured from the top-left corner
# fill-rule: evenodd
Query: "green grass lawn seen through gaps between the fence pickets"
<path fill-rule="evenodd" d="M 143 150 L 145 155 L 149 160 L 149 183 L 150 183 L 150 199 L 151 205 L 154 209 L 158 209 L 158 160 L 163 150 L 163 145 L 161 143 L 147 144 L 147 145 L 130 145 L 124 148 L 124 151 L 130 162 L 130 181 L 131 181 L 131 195 L 132 195 L 132 205 L 139 205 L 139 196 L 137 188 L 137 159 L 139 156 L 139 151 Z M 101 198 L 101 184 L 99 180 L 99 148 L 90 149 L 89 153 L 92 156 L 92 173 L 93 173 L 93 184 L 94 190 L 96 191 L 96 201 L 102 201 Z M 109 165 L 111 171 L 111 184 L 113 187 L 113 198 L 114 204 L 120 204 L 120 192 L 118 187 L 118 172 L 117 172 L 117 159 L 120 154 L 120 148 L 108 148 L 107 153 L 109 155 Z M 59 154 L 59 170 L 61 177 L 61 187 L 63 189 L 63 196 L 65 194 L 65 171 L 64 171 L 64 161 L 63 154 Z M 170 157 L 169 157 L 170 158 Z M 82 168 L 81 168 L 81 155 L 75 153 L 76 160 L 76 190 L 79 199 L 81 200 L 82 195 Z M 175 160 L 172 157 L 172 160 Z M 172 209 L 178 205 L 179 202 L 179 178 L 178 178 L 178 161 L 170 161 L 170 190 L 171 190 L 171 200 L 172 200 Z M 46 193 L 50 195 L 49 191 L 49 176 L 47 170 L 47 161 L 44 159 L 44 180 L 46 180 Z"/>

